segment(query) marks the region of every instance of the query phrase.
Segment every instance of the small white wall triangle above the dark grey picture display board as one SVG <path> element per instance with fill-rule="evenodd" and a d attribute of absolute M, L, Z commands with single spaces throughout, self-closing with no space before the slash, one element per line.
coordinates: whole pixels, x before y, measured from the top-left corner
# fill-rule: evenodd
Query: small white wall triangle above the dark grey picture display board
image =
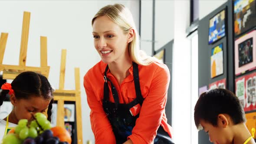
<path fill-rule="evenodd" d="M 227 0 L 199 0 L 199 20 L 226 2 Z"/>

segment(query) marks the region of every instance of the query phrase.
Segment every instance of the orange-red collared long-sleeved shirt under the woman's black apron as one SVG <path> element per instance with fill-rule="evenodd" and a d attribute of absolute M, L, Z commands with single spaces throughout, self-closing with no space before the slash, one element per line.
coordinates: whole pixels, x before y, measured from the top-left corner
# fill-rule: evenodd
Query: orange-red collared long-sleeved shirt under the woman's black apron
<path fill-rule="evenodd" d="M 104 72 L 107 64 L 100 61 L 84 76 L 84 87 L 87 102 L 91 108 L 90 120 L 95 136 L 95 144 L 115 144 L 115 135 L 107 115 L 102 107 Z M 158 127 L 161 126 L 171 136 L 172 128 L 167 124 L 165 105 L 167 89 L 170 82 L 170 72 L 163 63 L 153 62 L 151 65 L 138 65 L 141 94 L 144 98 L 139 118 L 136 120 L 132 134 L 128 137 L 133 144 L 153 144 Z M 118 91 L 120 103 L 130 103 L 136 98 L 133 81 L 133 68 L 121 85 L 109 72 L 108 79 L 112 81 Z M 109 88 L 110 84 L 108 84 Z M 109 101 L 114 102 L 112 92 L 109 91 Z"/>

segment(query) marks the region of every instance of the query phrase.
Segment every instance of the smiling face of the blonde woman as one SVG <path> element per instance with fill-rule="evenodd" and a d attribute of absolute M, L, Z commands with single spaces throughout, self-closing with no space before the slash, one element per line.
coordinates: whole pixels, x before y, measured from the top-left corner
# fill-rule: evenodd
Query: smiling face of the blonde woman
<path fill-rule="evenodd" d="M 129 34 L 107 16 L 97 17 L 92 25 L 94 46 L 105 63 L 118 62 L 128 55 Z"/>

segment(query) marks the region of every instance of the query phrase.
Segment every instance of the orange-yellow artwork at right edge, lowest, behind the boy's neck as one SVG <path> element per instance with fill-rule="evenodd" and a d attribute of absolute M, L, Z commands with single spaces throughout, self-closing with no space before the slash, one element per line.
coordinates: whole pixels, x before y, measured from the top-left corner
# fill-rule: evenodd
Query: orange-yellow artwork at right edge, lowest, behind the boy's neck
<path fill-rule="evenodd" d="M 255 139 L 255 134 L 256 134 L 256 112 L 251 112 L 251 113 L 247 113 L 245 114 L 246 116 L 246 127 L 249 130 L 249 132 L 251 133 L 251 135 L 253 136 L 253 138 Z"/>

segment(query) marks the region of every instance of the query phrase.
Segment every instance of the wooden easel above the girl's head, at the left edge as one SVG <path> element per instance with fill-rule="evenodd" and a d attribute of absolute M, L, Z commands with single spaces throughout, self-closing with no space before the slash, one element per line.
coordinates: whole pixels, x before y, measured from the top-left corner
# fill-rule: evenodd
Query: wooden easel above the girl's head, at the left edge
<path fill-rule="evenodd" d="M 47 37 L 40 37 L 41 65 L 40 67 L 26 66 L 26 52 L 28 46 L 30 27 L 30 12 L 23 13 L 23 25 L 20 43 L 19 65 L 3 65 L 3 55 L 7 43 L 8 33 L 1 33 L 0 37 L 0 71 L 3 71 L 3 79 L 15 79 L 21 72 L 33 71 L 41 73 L 48 78 L 50 67 L 47 66 Z"/>

